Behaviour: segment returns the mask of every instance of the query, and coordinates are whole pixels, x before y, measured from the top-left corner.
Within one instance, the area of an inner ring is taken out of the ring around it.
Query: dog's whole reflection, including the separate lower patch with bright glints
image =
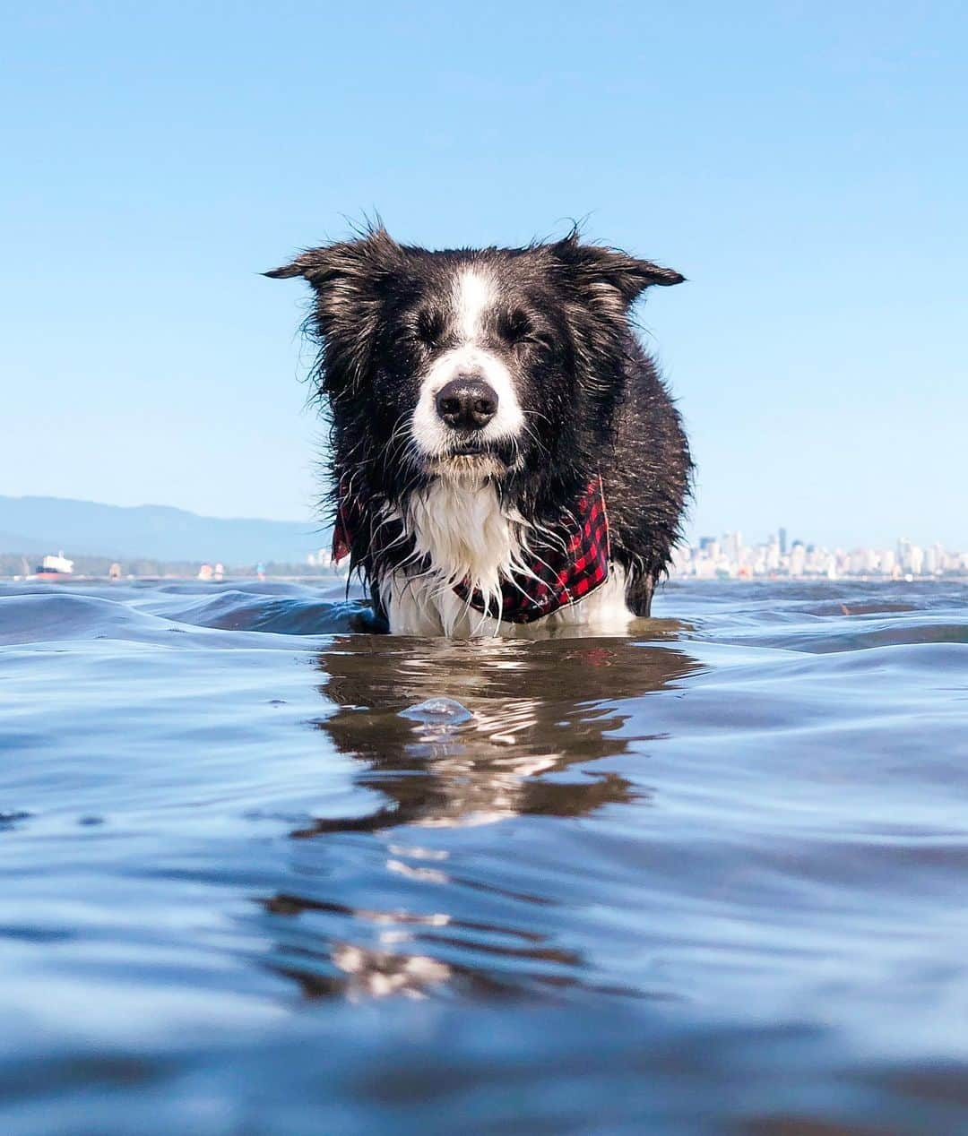
[[[399,829],[581,817],[648,796],[594,762],[627,749],[618,736],[628,718],[623,700],[675,685],[698,669],[695,661],[677,646],[631,640],[353,635],[334,642],[317,665],[320,693],[335,705],[317,727],[360,762],[358,783],[378,796],[362,815],[319,817],[292,836],[322,838],[329,862],[341,850],[325,843],[326,834],[384,834],[378,849],[365,845],[382,867],[378,877],[370,871],[352,884],[331,882],[323,893],[316,885],[307,888],[316,894],[268,900],[274,914],[302,914],[326,938],[320,951],[318,937],[314,945],[293,929],[287,937],[299,946],[290,942],[276,969],[312,997],[419,995],[454,980],[477,993],[579,982],[579,957],[557,946],[553,934],[521,925],[519,905],[531,901],[515,894],[514,880],[494,882],[493,892],[506,888],[517,914],[509,910],[500,926],[468,919],[452,902],[458,885],[449,852],[433,846],[440,840]],[[350,847],[360,855],[360,845]],[[479,958],[485,939],[490,958],[503,963],[464,964],[460,949],[473,946]],[[317,962],[307,964],[310,958]]]

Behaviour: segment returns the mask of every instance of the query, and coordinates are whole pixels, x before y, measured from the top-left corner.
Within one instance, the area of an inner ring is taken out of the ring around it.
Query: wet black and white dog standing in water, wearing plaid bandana
[[[315,290],[334,554],[391,632],[618,632],[649,613],[691,462],[628,312],[678,273],[575,233],[431,252],[378,227],[267,275]]]

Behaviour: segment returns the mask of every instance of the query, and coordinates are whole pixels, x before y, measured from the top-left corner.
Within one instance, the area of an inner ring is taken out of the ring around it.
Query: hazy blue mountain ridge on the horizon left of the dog
[[[210,560],[226,567],[270,560],[301,563],[328,537],[291,520],[199,517],[184,509],[123,508],[66,498],[0,496],[0,552]]]

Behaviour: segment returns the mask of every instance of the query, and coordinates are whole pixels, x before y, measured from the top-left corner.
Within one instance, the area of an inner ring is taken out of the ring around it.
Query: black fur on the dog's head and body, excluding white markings
[[[648,615],[679,535],[692,463],[629,309],[650,285],[683,277],[585,244],[577,233],[521,249],[431,252],[376,227],[266,274],[303,276],[315,291],[314,374],[331,419],[333,503],[342,494],[350,510],[352,567],[376,601],[382,575],[412,553],[408,498],[435,474],[415,454],[406,426],[423,371],[453,345],[442,298],[469,266],[498,282],[486,346],[511,370],[527,416],[519,443],[500,452],[509,468],[496,491],[527,519],[551,524],[601,473],[612,558],[628,569],[629,607]],[[403,531],[381,525],[387,502],[402,512]]]

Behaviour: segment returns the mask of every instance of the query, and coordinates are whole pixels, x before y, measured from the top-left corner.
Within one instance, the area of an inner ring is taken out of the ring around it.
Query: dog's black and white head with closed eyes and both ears
[[[540,476],[594,460],[621,398],[628,311],[683,277],[576,234],[521,249],[398,244],[383,228],[266,275],[315,290],[336,460],[394,486]]]

